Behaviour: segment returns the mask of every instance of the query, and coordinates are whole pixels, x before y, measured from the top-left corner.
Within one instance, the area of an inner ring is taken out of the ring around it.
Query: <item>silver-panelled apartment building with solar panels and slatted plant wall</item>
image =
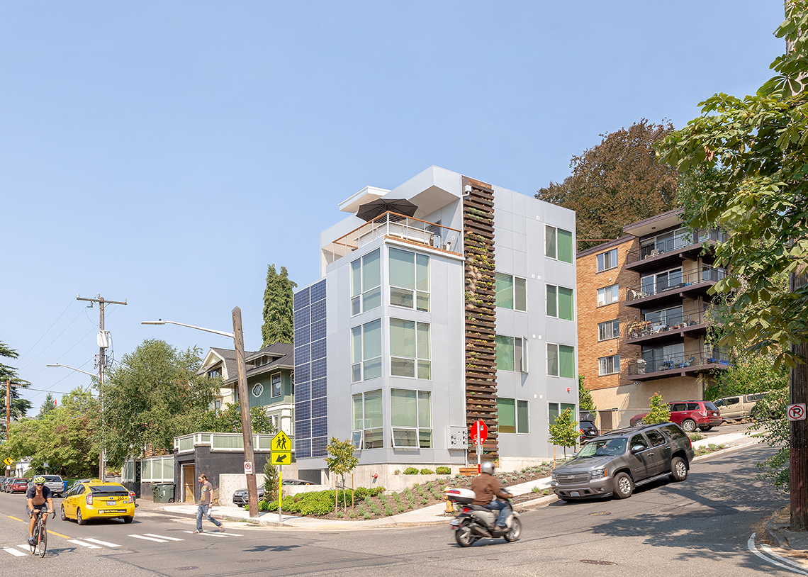
[[[360,468],[464,465],[478,419],[486,458],[552,455],[578,399],[574,213],[436,166],[339,209],[295,293],[298,470],[330,437]]]

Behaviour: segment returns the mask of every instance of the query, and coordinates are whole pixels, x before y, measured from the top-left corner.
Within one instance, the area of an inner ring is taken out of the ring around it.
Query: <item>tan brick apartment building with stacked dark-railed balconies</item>
[[[577,255],[580,374],[602,428],[624,426],[660,393],[701,399],[726,355],[710,346],[708,290],[725,276],[715,230],[689,232],[672,210]]]

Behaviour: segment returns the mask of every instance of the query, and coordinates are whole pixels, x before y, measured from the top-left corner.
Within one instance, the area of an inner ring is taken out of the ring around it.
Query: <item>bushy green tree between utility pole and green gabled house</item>
[[[145,340],[109,370],[103,385],[103,443],[107,460],[120,465],[174,449],[174,437],[199,429],[217,381],[196,374],[199,348],[178,352],[162,340]]]

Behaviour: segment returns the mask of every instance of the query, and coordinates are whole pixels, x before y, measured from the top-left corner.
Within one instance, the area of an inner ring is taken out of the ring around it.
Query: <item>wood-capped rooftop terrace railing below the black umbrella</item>
[[[360,246],[385,236],[417,242],[457,255],[463,254],[463,237],[460,230],[390,212],[368,221],[358,229],[351,230],[323,250],[331,256],[330,262],[333,263],[345,255],[350,255]]]

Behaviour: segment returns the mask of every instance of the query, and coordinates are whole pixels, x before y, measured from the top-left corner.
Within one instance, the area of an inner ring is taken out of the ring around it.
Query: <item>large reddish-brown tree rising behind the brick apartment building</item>
[[[574,210],[576,238],[619,238],[626,224],[675,208],[677,172],[656,162],[652,148],[672,130],[643,118],[600,134],[599,145],[572,158],[572,175],[541,188],[537,199]],[[596,244],[579,241],[578,250]]]

